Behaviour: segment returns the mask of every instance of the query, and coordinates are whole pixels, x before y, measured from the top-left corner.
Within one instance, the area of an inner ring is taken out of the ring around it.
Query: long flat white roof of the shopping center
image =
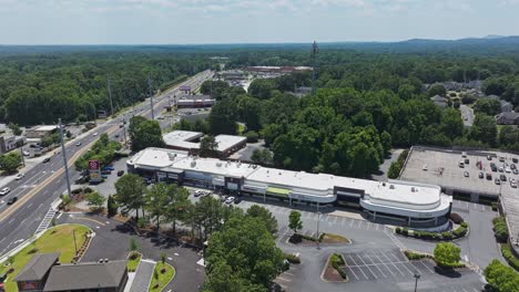
[[[305,171],[283,170],[256,165],[225,161],[215,158],[197,158],[185,153],[147,148],[131,158],[130,164],[167,169],[192,170],[216,176],[244,177],[246,181],[285,186],[293,189],[309,189],[330,194],[334,187],[364,190],[372,201],[385,201],[388,205],[401,204],[431,206],[440,202],[441,189],[435,185],[390,180],[389,182],[309,174]]]

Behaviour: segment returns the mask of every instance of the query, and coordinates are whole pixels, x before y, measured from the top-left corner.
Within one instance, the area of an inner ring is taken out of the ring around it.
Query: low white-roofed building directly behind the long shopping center
[[[163,139],[167,148],[175,150],[187,152],[191,155],[197,155],[200,152],[200,140],[204,134],[191,131],[173,131],[164,134]],[[232,136],[232,135],[217,135],[214,137],[217,143],[220,157],[227,157],[228,155],[245,147],[247,144],[246,137]]]

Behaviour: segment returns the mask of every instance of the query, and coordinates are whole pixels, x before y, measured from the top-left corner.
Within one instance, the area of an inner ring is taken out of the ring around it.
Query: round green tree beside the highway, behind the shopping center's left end
[[[156,121],[134,116],[130,119],[129,133],[133,152],[147,147],[162,147],[164,145],[161,125]]]

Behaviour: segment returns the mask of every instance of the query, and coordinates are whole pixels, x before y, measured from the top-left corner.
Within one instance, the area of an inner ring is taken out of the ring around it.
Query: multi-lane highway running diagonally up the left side
[[[179,93],[181,85],[190,85],[194,88],[200,86],[203,81],[212,77],[212,75],[213,72],[211,71],[201,72],[160,96],[154,96],[154,117],[160,116],[164,106],[169,104],[169,98]],[[129,121],[134,115],[151,118],[150,98],[65,144],[71,184],[80,176],[73,165],[75,159],[86,152],[103,133],[108,133],[111,138],[114,138],[115,135],[123,137],[123,128],[120,128],[120,125],[122,121]],[[161,126],[169,125],[169,123],[162,123],[163,121],[166,122],[167,119],[159,121]],[[129,123],[126,128],[128,125]],[[94,133],[99,135],[94,136]],[[80,146],[75,146],[78,142],[81,142]],[[60,150],[61,148],[57,148],[57,154],[51,157],[49,163],[35,165],[24,174],[26,176],[22,179],[1,186],[1,188],[10,187],[11,192],[0,197],[0,257],[31,238],[49,211],[51,204],[61,194],[65,192],[63,156]],[[18,201],[8,206],[6,202],[13,196],[18,197]]]

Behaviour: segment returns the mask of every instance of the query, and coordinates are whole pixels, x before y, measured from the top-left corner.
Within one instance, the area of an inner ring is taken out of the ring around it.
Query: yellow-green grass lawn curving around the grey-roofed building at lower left
[[[75,253],[74,238],[72,234],[73,230],[75,230],[75,240],[79,249],[85,240],[84,234],[86,234],[90,229],[80,225],[63,225],[49,229],[34,243],[18,252],[12,258],[12,268],[14,271],[7,278],[6,291],[18,291],[17,284],[11,281],[35,253],[60,252],[60,262],[70,263]],[[0,274],[3,274],[7,270],[9,270],[9,268],[2,264],[0,267]]]

